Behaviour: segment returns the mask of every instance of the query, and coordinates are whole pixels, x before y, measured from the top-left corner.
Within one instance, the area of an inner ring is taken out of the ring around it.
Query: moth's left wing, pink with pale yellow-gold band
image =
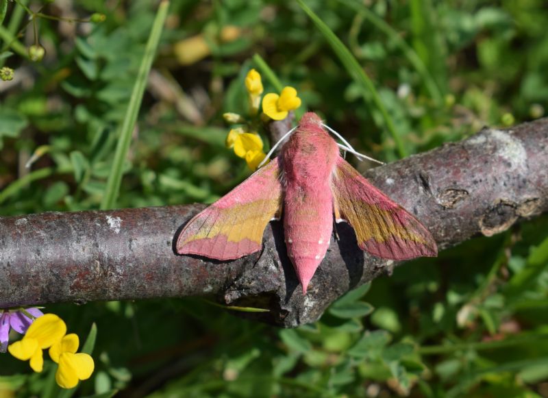
[[[277,158],[191,219],[177,253],[234,260],[260,250],[266,224],[282,212]]]

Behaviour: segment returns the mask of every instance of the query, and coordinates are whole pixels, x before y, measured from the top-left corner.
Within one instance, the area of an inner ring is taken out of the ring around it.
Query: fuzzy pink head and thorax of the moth
[[[285,181],[303,188],[329,184],[338,156],[337,144],[321,127],[321,119],[305,114],[282,150]]]

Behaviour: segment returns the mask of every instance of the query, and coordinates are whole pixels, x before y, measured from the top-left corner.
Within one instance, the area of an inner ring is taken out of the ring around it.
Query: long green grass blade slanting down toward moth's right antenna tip
[[[375,85],[373,84],[369,76],[366,75],[358,60],[354,58],[352,53],[349,51],[349,49],[347,49],[343,42],[339,40],[336,34],[334,34],[334,32],[329,29],[327,25],[325,25],[325,23],[319,18],[319,16],[317,16],[308,7],[308,5],[304,3],[303,0],[297,0],[297,3],[299,3],[303,11],[308,14],[314,25],[316,25],[321,34],[323,34],[325,40],[327,40],[329,45],[332,47],[340,62],[343,63],[345,69],[347,70],[349,75],[351,75],[352,79],[362,87],[362,97],[364,97],[364,101],[366,103],[369,103],[369,98],[367,97],[367,92],[369,92],[369,94],[371,95],[371,99],[373,100],[373,104],[377,107],[377,110],[379,110],[382,115],[384,127],[388,129],[390,136],[392,136],[396,144],[399,156],[405,158],[407,156],[407,151],[403,145],[403,140],[401,140],[401,136],[399,136],[398,132],[396,131],[396,127],[392,119],[390,119],[390,115],[386,111],[384,103],[382,103],[379,92],[377,92]]]

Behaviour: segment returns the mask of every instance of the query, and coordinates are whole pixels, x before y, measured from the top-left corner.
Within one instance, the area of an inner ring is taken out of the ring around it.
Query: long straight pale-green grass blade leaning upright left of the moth
[[[145,87],[147,86],[147,76],[149,75],[149,71],[154,60],[154,55],[156,53],[156,49],[158,48],[158,42],[160,42],[160,36],[166,21],[168,8],[169,1],[164,0],[160,3],[152,25],[149,41],[147,42],[147,47],[145,48],[145,55],[142,58],[137,79],[133,87],[132,97],[129,99],[127,112],[125,113],[122,127],[120,129],[120,136],[118,144],[116,145],[114,160],[112,162],[112,170],[107,180],[105,195],[101,201],[101,209],[103,210],[113,208],[119,195],[124,160],[127,158],[127,151],[129,150],[129,145],[132,142],[132,133],[137,121],[142,95],[145,93]]]

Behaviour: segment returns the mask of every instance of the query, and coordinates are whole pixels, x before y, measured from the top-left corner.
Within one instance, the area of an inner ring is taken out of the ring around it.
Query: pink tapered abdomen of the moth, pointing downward
[[[306,293],[308,282],[325,257],[333,232],[333,198],[329,186],[286,186],[284,235],[288,256]]]

